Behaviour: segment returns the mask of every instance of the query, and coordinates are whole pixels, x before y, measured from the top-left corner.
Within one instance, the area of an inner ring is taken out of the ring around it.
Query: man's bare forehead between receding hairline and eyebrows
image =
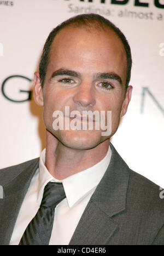
[[[124,45],[112,29],[67,26],[52,42],[47,72],[61,68],[83,72],[87,67],[89,72],[117,72],[124,81],[126,66]]]

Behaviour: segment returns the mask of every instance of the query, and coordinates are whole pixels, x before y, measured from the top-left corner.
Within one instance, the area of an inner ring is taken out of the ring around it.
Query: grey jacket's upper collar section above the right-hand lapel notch
[[[91,201],[112,217],[124,211],[129,178],[129,168],[110,143],[112,157],[106,173],[97,186]]]

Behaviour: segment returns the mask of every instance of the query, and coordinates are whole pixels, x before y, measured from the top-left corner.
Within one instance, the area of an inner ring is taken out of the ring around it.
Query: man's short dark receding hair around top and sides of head
[[[40,64],[39,64],[40,81],[41,81],[42,87],[43,87],[44,81],[45,81],[45,75],[46,75],[46,69],[48,66],[51,44],[54,41],[54,38],[57,35],[57,33],[68,25],[74,25],[74,26],[77,25],[78,27],[81,27],[81,26],[82,27],[92,27],[92,28],[94,27],[95,29],[105,29],[106,27],[109,27],[116,33],[116,35],[118,35],[118,37],[122,41],[122,44],[124,44],[124,48],[125,48],[125,52],[126,52],[127,75],[126,75],[125,88],[127,89],[128,83],[130,82],[131,67],[132,67],[132,56],[131,56],[130,45],[128,44],[128,41],[127,41],[125,35],[111,21],[105,19],[101,15],[92,14],[92,13],[74,16],[73,18],[70,18],[70,19],[62,22],[60,25],[55,27],[55,29],[53,29],[50,32],[50,34],[44,44],[43,53],[42,53],[42,56],[40,59]]]

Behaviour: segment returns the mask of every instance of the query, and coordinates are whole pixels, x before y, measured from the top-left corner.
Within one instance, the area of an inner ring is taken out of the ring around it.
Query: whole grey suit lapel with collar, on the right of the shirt
[[[112,217],[126,208],[129,169],[110,143],[112,157],[69,244],[107,244],[119,230]]]

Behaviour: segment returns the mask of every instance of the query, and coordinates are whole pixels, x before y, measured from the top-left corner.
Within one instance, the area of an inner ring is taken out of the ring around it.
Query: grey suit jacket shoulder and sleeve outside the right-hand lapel
[[[120,237],[128,236],[129,244],[163,244],[164,198],[161,193],[164,195],[164,190],[133,170],[127,170],[125,210],[113,217],[119,223]]]

